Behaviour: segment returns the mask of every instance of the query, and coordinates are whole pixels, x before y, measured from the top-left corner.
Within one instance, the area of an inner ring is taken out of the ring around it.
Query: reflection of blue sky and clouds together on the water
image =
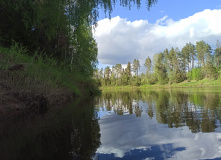
[[[215,128],[215,132],[207,133],[193,133],[186,125],[169,128],[168,124],[159,123],[156,107],[153,107],[154,116],[151,118],[146,112],[147,103],[141,100],[133,101],[142,108],[141,116],[136,116],[135,112],[129,114],[127,110],[124,110],[122,116],[115,112],[116,105],[112,104],[111,110],[108,111],[103,104],[103,109],[99,112],[101,146],[94,159],[197,160],[221,157],[220,127]],[[197,109],[198,112],[202,110]]]

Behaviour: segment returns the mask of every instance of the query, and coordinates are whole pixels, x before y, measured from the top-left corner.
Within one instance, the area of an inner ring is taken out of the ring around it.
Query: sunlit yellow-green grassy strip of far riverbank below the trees
[[[166,84],[166,85],[141,85],[141,86],[105,86],[100,87],[101,90],[127,90],[127,89],[148,89],[148,88],[188,88],[188,87],[221,87],[221,79],[218,80],[193,80],[193,81],[184,81],[176,84]]]

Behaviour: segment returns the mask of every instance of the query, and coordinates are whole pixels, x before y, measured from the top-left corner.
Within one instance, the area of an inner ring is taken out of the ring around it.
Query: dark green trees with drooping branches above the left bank
[[[116,2],[131,8],[141,0],[1,0],[0,45],[18,42],[29,54],[43,52],[86,75],[97,63],[92,35],[100,9],[111,17]],[[149,9],[157,0],[146,0]]]

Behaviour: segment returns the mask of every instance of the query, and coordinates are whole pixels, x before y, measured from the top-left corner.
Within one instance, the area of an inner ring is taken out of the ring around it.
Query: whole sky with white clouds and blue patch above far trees
[[[166,48],[180,50],[188,43],[204,40],[213,49],[221,41],[220,0],[158,0],[150,11],[145,0],[139,10],[116,5],[112,19],[100,11],[94,37],[98,43],[99,68],[145,59]]]

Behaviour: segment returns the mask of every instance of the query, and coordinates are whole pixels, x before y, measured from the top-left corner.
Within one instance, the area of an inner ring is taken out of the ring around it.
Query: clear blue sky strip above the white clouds
[[[118,0],[119,1],[119,0]],[[136,5],[133,5],[131,10],[124,8],[116,3],[115,9],[111,16],[120,16],[127,18],[129,21],[146,19],[150,23],[155,23],[157,19],[164,15],[169,16],[173,20],[187,18],[197,12],[205,9],[221,9],[220,0],[158,0],[157,4],[153,5],[150,10],[147,10],[145,0],[141,2],[141,8],[138,10]],[[104,19],[105,14],[101,10],[99,19]]]

